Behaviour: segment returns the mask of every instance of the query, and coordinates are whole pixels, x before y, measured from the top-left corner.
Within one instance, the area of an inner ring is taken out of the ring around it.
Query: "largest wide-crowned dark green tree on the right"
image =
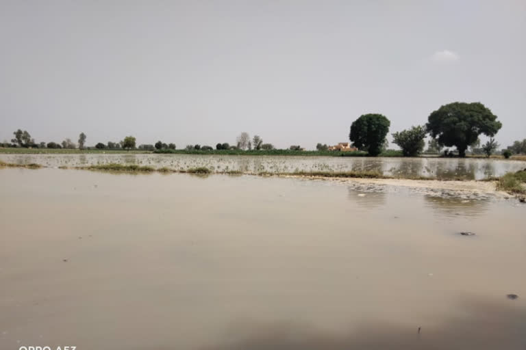
[[[466,157],[466,149],[477,141],[480,134],[493,137],[502,124],[481,103],[455,102],[431,113],[426,126],[439,144],[455,146],[459,156]]]

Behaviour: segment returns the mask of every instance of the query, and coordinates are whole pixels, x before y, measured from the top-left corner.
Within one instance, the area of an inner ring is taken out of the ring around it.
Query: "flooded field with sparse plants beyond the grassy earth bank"
[[[465,178],[481,180],[526,168],[526,161],[504,159],[286,157],[190,154],[0,154],[6,163],[38,163],[46,167],[75,167],[104,163],[138,164],[188,170],[208,167],[213,172],[379,172],[386,176]]]

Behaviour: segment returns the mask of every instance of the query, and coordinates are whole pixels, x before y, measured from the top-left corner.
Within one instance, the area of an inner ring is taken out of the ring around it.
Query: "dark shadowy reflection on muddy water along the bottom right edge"
[[[466,300],[458,314],[434,325],[364,321],[347,332],[331,333],[308,324],[247,321],[233,325],[225,338],[201,350],[523,350],[526,312],[513,304]]]

